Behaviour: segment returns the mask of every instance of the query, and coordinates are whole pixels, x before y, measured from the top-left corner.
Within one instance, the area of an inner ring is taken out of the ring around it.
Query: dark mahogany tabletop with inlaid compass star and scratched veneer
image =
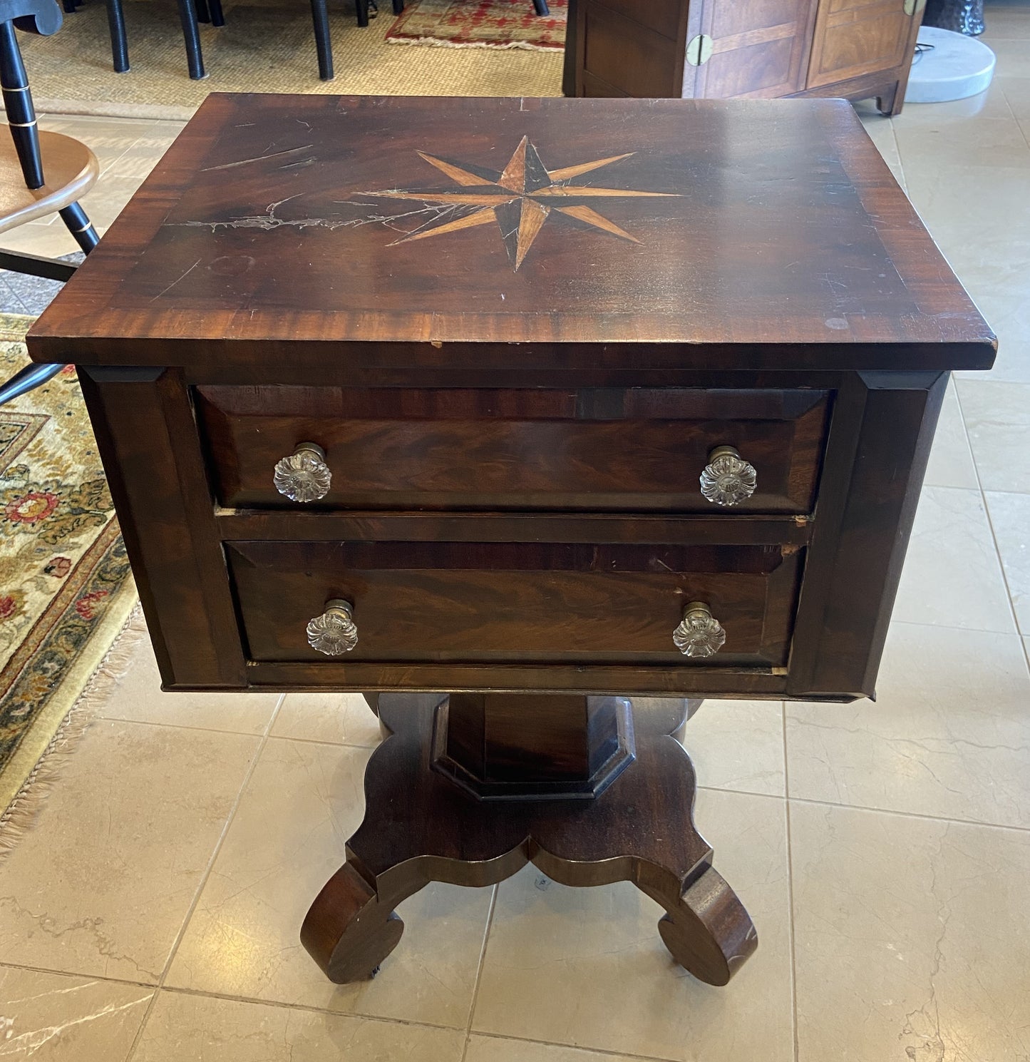
[[[312,343],[339,363],[370,344],[510,363],[522,343],[713,369],[994,350],[835,100],[216,93],[30,336],[36,360],[85,364]]]

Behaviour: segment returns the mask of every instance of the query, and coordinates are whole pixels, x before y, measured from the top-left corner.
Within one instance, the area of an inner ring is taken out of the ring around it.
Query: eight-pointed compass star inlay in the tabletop
[[[486,171],[475,172],[467,166],[457,166],[443,158],[427,155],[419,151],[430,166],[445,173],[463,190],[458,191],[419,191],[389,189],[383,191],[359,192],[378,199],[408,200],[431,204],[435,208],[435,217],[399,240],[394,240],[390,246],[398,243],[410,243],[412,240],[426,240],[447,233],[457,233],[477,225],[488,225],[496,221],[501,232],[501,239],[508,251],[512,266],[517,270],[529,253],[533,241],[539,235],[544,223],[552,212],[572,218],[602,233],[615,236],[632,243],[640,241],[598,213],[590,205],[590,200],[598,199],[675,199],[674,192],[647,192],[628,188],[596,188],[591,185],[572,185],[569,182],[584,173],[599,170],[603,166],[629,158],[635,152],[625,155],[613,155],[611,158],[598,158],[591,162],[581,162],[579,166],[567,166],[560,170],[548,170],[540,161],[536,149],[530,143],[529,137],[522,137],[521,143],[515,149],[503,173],[490,176]],[[479,169],[479,168],[477,168]],[[496,173],[496,171],[493,171]],[[584,202],[581,202],[584,201]]]

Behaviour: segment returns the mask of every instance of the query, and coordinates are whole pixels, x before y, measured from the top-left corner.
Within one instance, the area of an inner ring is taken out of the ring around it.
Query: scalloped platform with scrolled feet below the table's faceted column
[[[503,695],[490,697],[497,703]],[[392,733],[368,761],[364,821],[301,930],[331,980],[373,975],[404,931],[393,908],[430,881],[494,885],[527,862],[563,885],[633,881],[666,909],[658,930],[673,958],[709,984],[729,980],[757,935],[693,825],[693,767],[673,736],[687,702],[650,701],[634,710],[635,756],[593,799],[531,799],[523,787],[507,801],[477,799],[434,760],[437,709],[446,702],[424,693],[378,699]],[[584,727],[596,730],[603,708],[591,704]],[[441,741],[437,734],[437,754]]]

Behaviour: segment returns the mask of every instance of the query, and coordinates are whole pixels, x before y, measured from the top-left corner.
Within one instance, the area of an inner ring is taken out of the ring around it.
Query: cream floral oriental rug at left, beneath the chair
[[[32,318],[0,314],[0,379]],[[0,823],[136,602],[74,370],[0,407]]]

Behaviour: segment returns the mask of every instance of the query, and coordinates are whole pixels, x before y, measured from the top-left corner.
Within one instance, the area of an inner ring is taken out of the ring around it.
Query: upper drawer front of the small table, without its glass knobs
[[[751,513],[811,510],[829,393],[202,387],[220,501],[302,508],[273,483],[301,443],[326,456],[331,509],[718,512],[699,479],[719,446],[754,466]]]

